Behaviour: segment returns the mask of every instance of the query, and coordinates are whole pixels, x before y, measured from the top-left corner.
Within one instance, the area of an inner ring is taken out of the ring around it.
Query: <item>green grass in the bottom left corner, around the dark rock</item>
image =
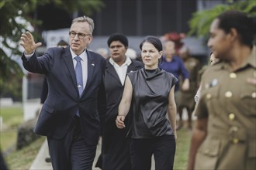
[[[0,107],[0,115],[3,120],[0,148],[3,153],[8,154],[5,157],[6,164],[9,169],[29,169],[45,138],[40,137],[31,145],[16,151],[17,130],[23,122],[22,105]]]

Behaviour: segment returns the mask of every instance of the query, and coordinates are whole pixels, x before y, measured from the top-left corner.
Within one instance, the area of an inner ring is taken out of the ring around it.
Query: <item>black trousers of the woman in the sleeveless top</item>
[[[130,155],[133,170],[150,170],[154,155],[155,170],[173,169],[176,141],[172,135],[132,139]]]

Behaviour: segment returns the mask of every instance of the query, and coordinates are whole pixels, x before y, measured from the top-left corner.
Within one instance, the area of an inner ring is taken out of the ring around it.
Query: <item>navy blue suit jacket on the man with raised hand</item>
[[[64,138],[79,110],[81,131],[88,145],[99,141],[100,121],[106,115],[104,73],[106,59],[98,53],[86,50],[88,56],[88,80],[79,97],[74,64],[67,48],[50,48],[43,56],[33,54],[30,59],[22,56],[26,70],[47,76],[49,94],[45,100],[34,129],[36,134],[55,139]]]

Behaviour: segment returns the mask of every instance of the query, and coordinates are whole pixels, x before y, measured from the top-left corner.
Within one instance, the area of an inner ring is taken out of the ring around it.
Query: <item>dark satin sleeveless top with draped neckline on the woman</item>
[[[128,76],[133,85],[131,138],[173,135],[166,114],[168,95],[178,79],[164,70],[140,69]]]

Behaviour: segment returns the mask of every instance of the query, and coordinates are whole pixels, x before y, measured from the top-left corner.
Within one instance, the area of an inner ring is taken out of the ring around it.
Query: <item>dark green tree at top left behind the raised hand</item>
[[[81,12],[91,15],[103,6],[102,0],[2,0],[0,2],[0,97],[12,93],[21,97],[21,79],[23,76],[19,64],[12,58],[21,56],[19,38],[28,29],[29,24],[35,29],[33,36],[40,38],[36,29],[42,23],[36,19],[36,9],[43,5],[55,5],[66,12]],[[30,26],[30,27],[31,27]]]

